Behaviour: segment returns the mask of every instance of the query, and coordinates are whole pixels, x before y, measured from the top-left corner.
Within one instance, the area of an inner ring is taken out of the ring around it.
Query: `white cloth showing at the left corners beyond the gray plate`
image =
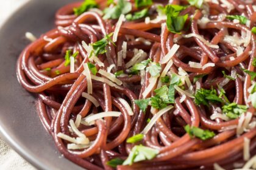
[[[0,0],[0,27],[21,5],[29,0]],[[20,157],[0,138],[0,169],[1,170],[35,170],[33,166]]]

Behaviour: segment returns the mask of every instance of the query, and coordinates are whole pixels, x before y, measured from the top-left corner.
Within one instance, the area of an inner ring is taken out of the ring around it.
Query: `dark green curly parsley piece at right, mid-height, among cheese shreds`
[[[210,106],[209,101],[212,103],[221,102],[224,101],[217,96],[217,92],[215,89],[207,90],[207,89],[198,89],[196,90],[196,94],[194,95],[195,103],[197,105],[204,104],[205,106]]]

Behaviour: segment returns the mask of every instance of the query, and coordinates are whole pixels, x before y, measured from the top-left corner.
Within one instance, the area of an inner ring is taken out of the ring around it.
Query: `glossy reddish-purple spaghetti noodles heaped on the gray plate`
[[[101,10],[107,5],[106,1],[97,2]],[[220,70],[232,68],[232,71],[235,70],[240,76],[222,87],[230,101],[248,106],[247,111],[253,114],[251,122],[255,121],[255,108],[248,102],[249,92],[247,91],[253,81],[250,75],[243,72],[243,69],[255,71],[252,64],[256,56],[255,35],[252,33],[249,44],[240,55],[236,55],[237,47],[230,44],[231,42],[224,41],[224,36],[229,33],[241,39],[242,34],[251,32],[256,22],[256,12],[253,9],[253,5],[256,4],[255,1],[249,4],[240,0],[228,0],[228,2],[235,8],[231,12],[228,12],[227,7],[223,5],[205,2],[210,22],[204,26],[199,24],[199,19],[204,17],[202,9],[191,6],[183,10],[180,14],[189,15],[191,28],[183,31],[182,35],[169,32],[166,24],[162,25],[164,21],[149,24],[146,24],[143,19],[123,22],[116,46],[108,44],[107,52],[98,55],[104,67],[96,65],[97,69],[107,70],[108,66],[115,64],[116,67],[113,67],[112,73],[117,70],[127,73],[126,63],[135,55],[134,49],[142,49],[147,53],[146,59],[150,58],[158,63],[175,43],[180,47],[172,56],[173,64],[169,69],[171,72],[178,73],[179,68],[182,68],[188,72],[190,81],[193,81],[196,75],[208,74],[205,78],[199,78],[197,84],[192,84],[193,88],[200,86],[204,89],[218,89],[218,85],[226,81]],[[154,5],[161,3],[166,5],[167,1],[155,1]],[[169,3],[188,5],[187,1],[170,1]],[[82,41],[90,44],[104,38],[115,30],[117,19],[104,20],[99,13],[92,11],[80,16],[74,15],[73,8],[81,4],[82,2],[68,4],[57,11],[55,15],[57,28],[44,33],[23,50],[16,64],[16,73],[21,86],[37,94],[38,115],[43,126],[54,138],[59,151],[83,168],[112,169],[107,162],[116,157],[125,159],[135,145],[126,143],[127,138],[139,134],[146,126],[146,120],[152,118],[151,109],[147,109],[144,114],[134,102],[134,100],[143,99],[142,94],[150,83],[151,74],[146,72],[144,77],[141,75],[118,77],[123,83],[120,89],[93,80],[91,95],[96,98],[99,107],[95,107],[90,100],[83,98],[82,92],[87,92],[88,86],[87,78],[82,74],[83,63],[89,62],[90,54],[82,46]],[[241,5],[244,8],[241,8]],[[134,5],[132,10],[137,10]],[[152,12],[151,15],[154,18],[156,12]],[[227,19],[219,20],[220,15],[244,15],[251,23],[243,25]],[[218,45],[219,48],[209,47],[198,36],[183,38],[183,35],[189,33],[201,35],[212,46]],[[136,38],[144,38],[151,43],[146,44],[135,40]],[[127,41],[126,58],[122,58],[122,65],[117,66],[118,52],[122,50],[124,41]],[[74,73],[69,73],[70,66],[65,66],[64,56],[68,49],[79,52]],[[214,63],[214,66],[205,69],[194,68],[188,61],[200,63],[201,66]],[[166,64],[162,64],[162,70],[165,66]],[[47,68],[51,70],[45,70]],[[154,95],[154,89],[157,89],[157,86],[153,87],[146,98]],[[125,98],[133,106],[133,115],[129,115],[126,106],[118,100],[119,97]],[[180,92],[176,93],[174,108],[160,117],[140,141],[144,146],[158,149],[159,154],[152,160],[133,163],[131,166],[119,165],[118,169],[212,169],[213,163],[232,169],[233,162],[244,162],[242,151],[244,137],[251,140],[250,152],[251,155],[255,154],[255,127],[241,135],[236,135],[234,128],[228,128],[236,127],[239,118],[228,121],[221,118],[211,120],[210,117],[217,108],[215,104],[211,107],[197,106],[193,98],[186,97],[181,101],[182,98]],[[78,127],[82,134],[93,141],[89,148],[68,149],[68,141],[57,136],[62,132],[71,137],[77,137],[69,130],[69,120],[76,120],[77,115],[84,118],[91,113],[109,111],[119,111],[121,116],[105,117],[103,120],[96,120],[94,125],[81,124]],[[191,138],[183,129],[186,124],[209,129],[216,135],[205,141]]]

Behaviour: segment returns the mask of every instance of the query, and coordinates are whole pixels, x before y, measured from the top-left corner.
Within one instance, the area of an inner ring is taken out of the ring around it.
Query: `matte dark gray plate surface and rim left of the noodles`
[[[17,10],[0,30],[0,132],[7,143],[38,169],[82,169],[61,157],[35,110],[35,98],[16,79],[18,55],[36,36],[54,27],[54,14],[68,0],[34,0]]]

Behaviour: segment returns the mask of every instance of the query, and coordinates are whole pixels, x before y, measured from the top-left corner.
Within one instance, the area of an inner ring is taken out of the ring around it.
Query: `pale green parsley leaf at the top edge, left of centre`
[[[118,19],[121,14],[127,14],[132,10],[132,4],[126,0],[118,0],[115,7],[104,10],[103,19]]]

